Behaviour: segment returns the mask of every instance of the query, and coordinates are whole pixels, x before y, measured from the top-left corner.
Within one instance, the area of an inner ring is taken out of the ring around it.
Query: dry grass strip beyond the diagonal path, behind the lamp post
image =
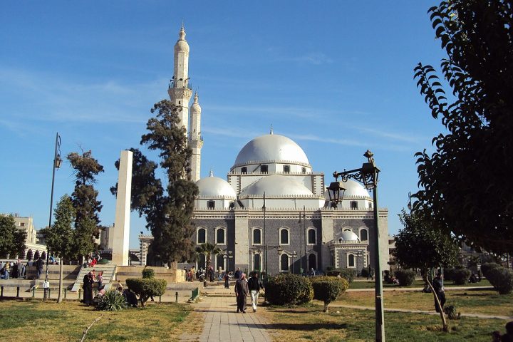
[[[454,304],[462,314],[485,314],[513,316],[513,294],[498,294],[492,290],[455,290],[446,291],[447,303]],[[432,294],[420,291],[384,291],[385,308],[434,310]],[[371,306],[374,304],[373,294],[368,292],[346,292],[336,304]]]

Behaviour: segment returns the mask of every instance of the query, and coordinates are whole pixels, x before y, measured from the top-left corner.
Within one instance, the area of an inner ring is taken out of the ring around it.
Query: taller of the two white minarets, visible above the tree
[[[189,101],[192,96],[192,90],[189,86],[189,44],[185,40],[185,29],[182,24],[178,41],[175,44],[175,71],[172,80],[167,89],[171,102],[174,105],[182,107],[180,112],[180,123],[187,130],[189,126]]]

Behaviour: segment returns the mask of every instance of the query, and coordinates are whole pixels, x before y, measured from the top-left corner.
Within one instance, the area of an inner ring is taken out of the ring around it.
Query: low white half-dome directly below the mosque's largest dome
[[[304,185],[282,175],[270,175],[261,177],[260,180],[244,188],[240,195],[264,195],[268,196],[313,196],[314,194]]]

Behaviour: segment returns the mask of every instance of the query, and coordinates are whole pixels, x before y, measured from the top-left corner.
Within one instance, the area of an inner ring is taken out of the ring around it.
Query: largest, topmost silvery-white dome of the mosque
[[[234,167],[269,162],[286,162],[310,166],[304,150],[293,140],[277,134],[254,138],[240,150]]]

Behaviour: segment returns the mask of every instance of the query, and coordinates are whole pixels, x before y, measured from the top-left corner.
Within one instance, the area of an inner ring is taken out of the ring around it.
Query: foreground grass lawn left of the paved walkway
[[[190,306],[150,304],[123,311],[95,311],[78,302],[0,301],[2,341],[177,341]]]

